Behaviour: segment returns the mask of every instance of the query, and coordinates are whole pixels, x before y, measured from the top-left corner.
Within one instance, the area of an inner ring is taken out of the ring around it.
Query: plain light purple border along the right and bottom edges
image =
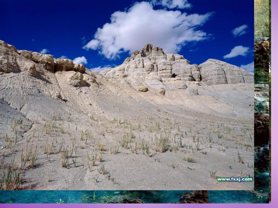
[[[272,55],[272,72],[271,72],[271,77],[273,80],[278,80],[278,59],[276,58],[276,54],[278,54],[278,28],[275,28],[274,25],[276,25],[276,21],[278,21],[278,1],[272,1],[271,2],[271,22],[272,22],[272,27],[271,27],[271,53],[275,54],[275,56]],[[276,11],[276,12],[274,12]],[[278,90],[278,82],[272,82],[272,91],[276,92]],[[271,122],[273,126],[278,123],[278,108],[276,107],[276,103],[278,102],[278,98],[275,96],[274,93],[272,93],[272,106],[271,106],[271,112],[272,112],[272,117],[271,117]],[[272,149],[273,147],[277,147],[278,142],[276,137],[278,136],[278,128],[271,128],[271,146]],[[277,161],[278,159],[278,153],[276,151],[271,151],[271,159],[272,161]],[[1,204],[1,208],[17,208],[17,207],[23,207],[23,208],[48,208],[48,207],[70,207],[70,208],[76,208],[76,207],[156,207],[156,208],[166,208],[166,207],[185,207],[185,206],[190,206],[190,207],[238,207],[238,208],[254,208],[254,207],[277,207],[277,202],[278,199],[278,181],[277,181],[277,170],[278,170],[278,163],[277,162],[272,162],[271,163],[271,172],[272,172],[272,177],[271,177],[271,203],[270,204]],[[273,194],[274,193],[274,194]]]

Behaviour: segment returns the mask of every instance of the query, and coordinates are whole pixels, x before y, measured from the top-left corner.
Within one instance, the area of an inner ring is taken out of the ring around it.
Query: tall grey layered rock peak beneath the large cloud
[[[100,74],[118,78],[134,88],[143,85],[166,90],[185,90],[187,82],[193,81],[207,85],[254,82],[252,74],[237,66],[215,59],[208,59],[199,66],[191,65],[183,55],[165,53],[151,44],[141,51],[133,52],[123,64],[105,69]]]

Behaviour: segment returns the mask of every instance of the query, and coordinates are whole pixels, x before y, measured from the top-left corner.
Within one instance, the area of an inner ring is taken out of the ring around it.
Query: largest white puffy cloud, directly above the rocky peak
[[[179,52],[187,42],[205,40],[207,33],[198,30],[212,13],[186,14],[180,11],[154,10],[150,2],[135,3],[127,11],[116,11],[111,23],[98,28],[84,49],[99,50],[108,59],[118,58],[122,52],[134,52],[147,43],[165,52]]]

